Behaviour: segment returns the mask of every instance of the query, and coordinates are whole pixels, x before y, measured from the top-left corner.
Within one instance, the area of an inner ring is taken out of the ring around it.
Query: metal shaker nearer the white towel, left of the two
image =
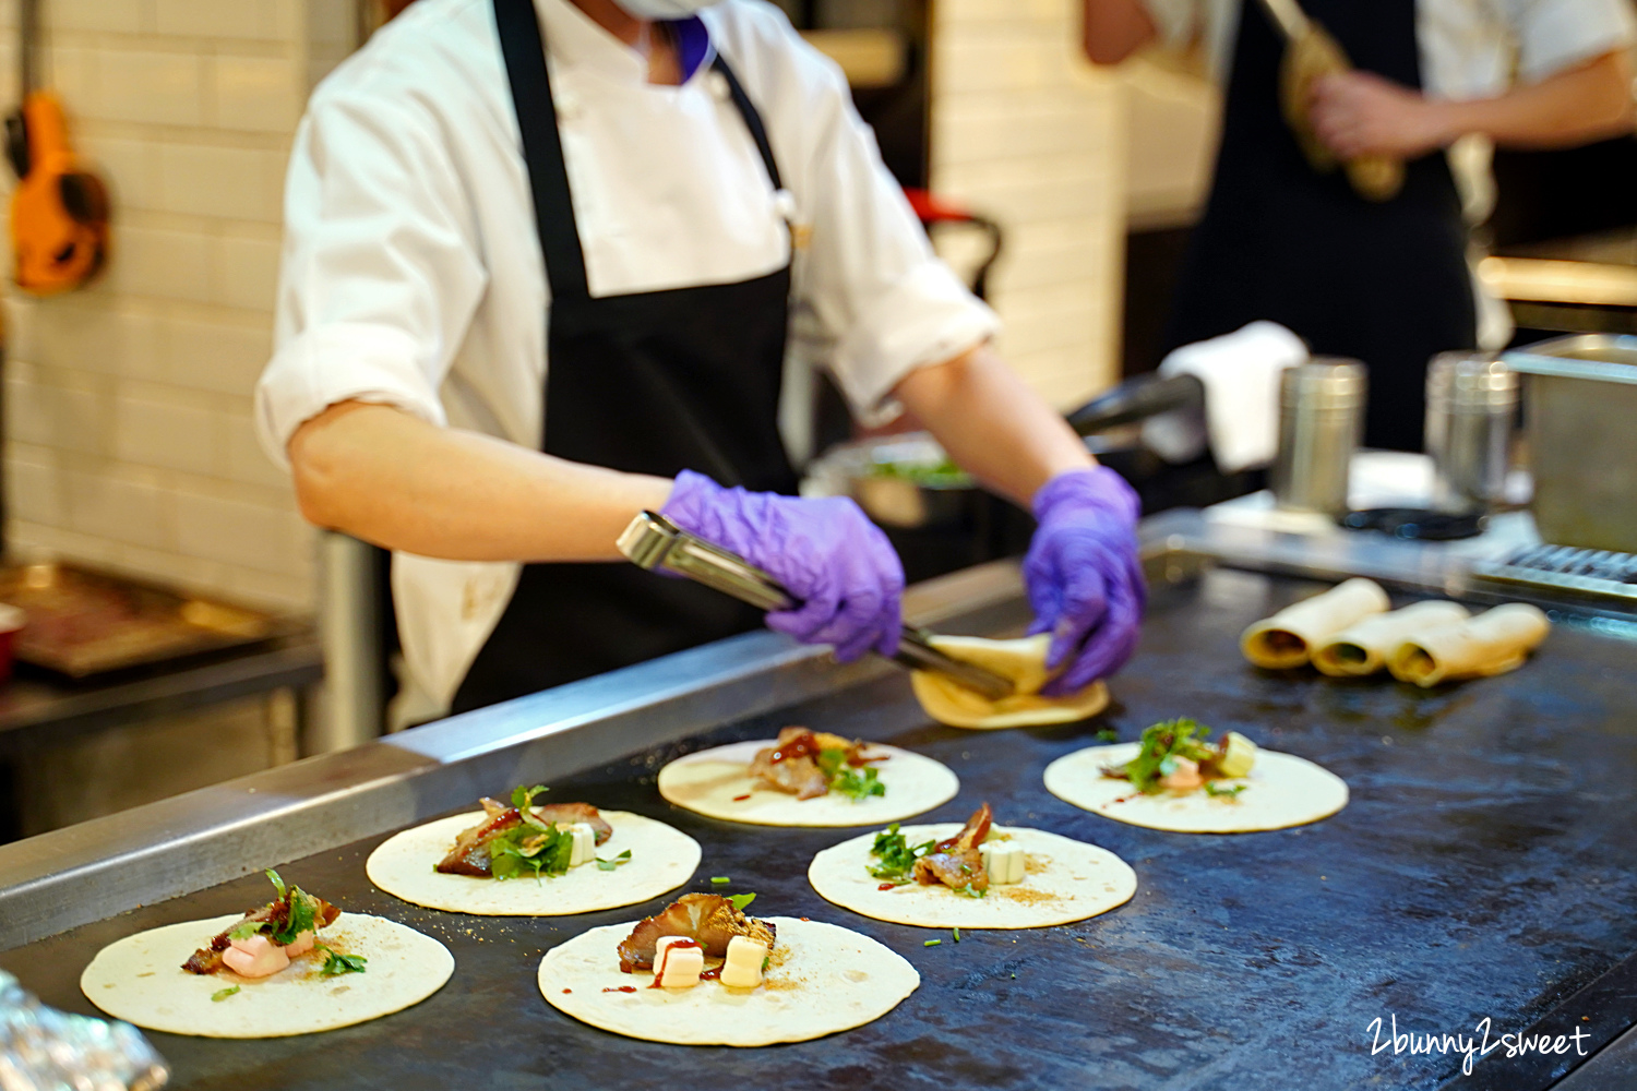
[[[1364,432],[1369,370],[1357,360],[1315,357],[1278,381],[1278,456],[1274,499],[1293,512],[1347,512],[1352,455]]]

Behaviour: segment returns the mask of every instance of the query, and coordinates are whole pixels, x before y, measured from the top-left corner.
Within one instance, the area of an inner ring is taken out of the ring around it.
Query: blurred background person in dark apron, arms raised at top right
[[[1421,450],[1431,357],[1509,335],[1468,267],[1493,146],[1572,147],[1632,128],[1630,0],[1303,0],[1355,67],[1315,83],[1313,131],[1344,162],[1406,162],[1403,190],[1375,203],[1308,165],[1280,105],[1285,41],[1257,0],[1084,7],[1094,62],[1202,43],[1226,85],[1167,348],[1270,319],[1315,353],[1359,358],[1370,447]]]

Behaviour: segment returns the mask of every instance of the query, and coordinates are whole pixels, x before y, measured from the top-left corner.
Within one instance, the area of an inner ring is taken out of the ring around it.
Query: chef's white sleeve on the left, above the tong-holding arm
[[[275,348],[255,391],[257,435],[282,466],[295,430],[337,402],[445,424],[439,386],[488,275],[429,116],[321,88],[296,132]]]

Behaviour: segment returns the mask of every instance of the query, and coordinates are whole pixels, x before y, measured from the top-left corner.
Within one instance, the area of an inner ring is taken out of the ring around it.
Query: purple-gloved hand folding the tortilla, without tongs
[[[1141,501],[1107,466],[1058,474],[1035,494],[1039,527],[1023,558],[1035,625],[1051,633],[1046,667],[1066,669],[1041,692],[1076,694],[1136,651],[1148,589],[1138,559]]]

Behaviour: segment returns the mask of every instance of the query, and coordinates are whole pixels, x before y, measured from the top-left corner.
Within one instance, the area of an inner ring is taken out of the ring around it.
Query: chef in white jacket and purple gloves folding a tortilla
[[[761,622],[616,564],[642,509],[891,653],[902,568],[779,438],[796,350],[912,409],[1041,520],[1064,687],[1131,654],[1136,501],[987,348],[838,69],[768,3],[419,0],[314,93],[286,190],[268,453],[316,523],[388,546],[414,685],[476,708]]]

